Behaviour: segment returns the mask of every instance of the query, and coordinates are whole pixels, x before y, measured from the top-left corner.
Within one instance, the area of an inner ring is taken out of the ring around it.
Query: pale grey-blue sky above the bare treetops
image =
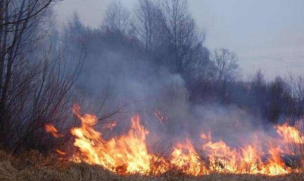
[[[137,0],[122,0],[132,11]],[[57,7],[59,26],[74,11],[99,27],[111,0],[64,0]],[[205,45],[237,53],[243,78],[262,69],[266,78],[304,74],[304,0],[189,0],[190,11],[207,32]]]

